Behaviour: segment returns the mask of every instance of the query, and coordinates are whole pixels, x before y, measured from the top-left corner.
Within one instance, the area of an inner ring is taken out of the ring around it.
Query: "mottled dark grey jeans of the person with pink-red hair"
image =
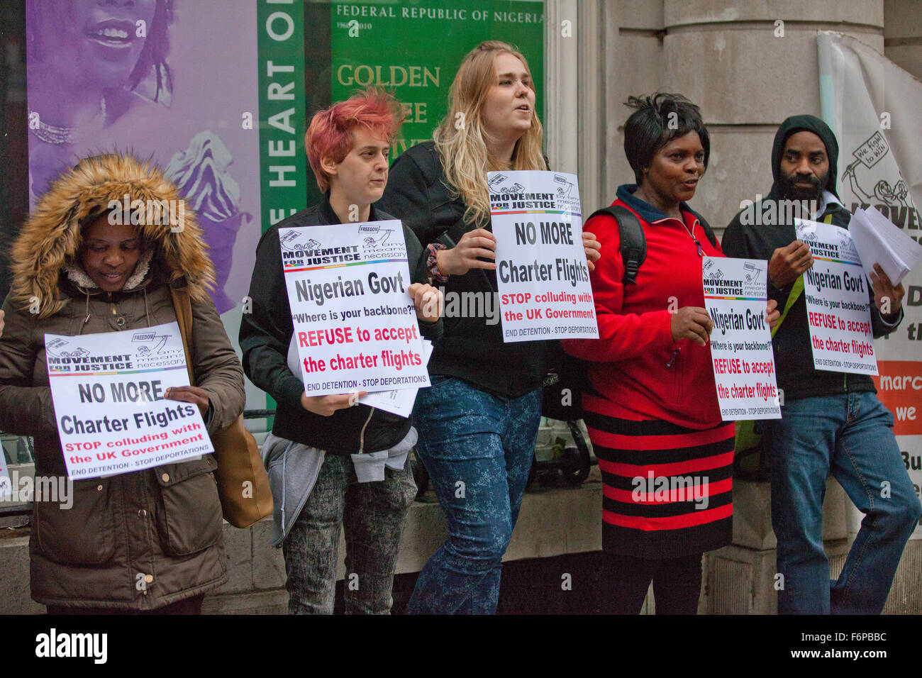
[[[348,456],[326,455],[317,482],[282,541],[290,614],[332,614],[339,531],[346,531],[347,614],[388,614],[397,547],[416,498],[409,463],[384,481],[358,482]]]

